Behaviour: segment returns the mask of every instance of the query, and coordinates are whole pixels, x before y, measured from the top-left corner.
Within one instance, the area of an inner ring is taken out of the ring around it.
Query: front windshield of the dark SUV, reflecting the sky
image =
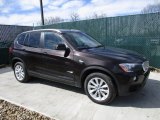
[[[78,49],[87,49],[102,46],[99,42],[81,32],[65,32],[63,33],[63,36],[68,40],[70,44]]]

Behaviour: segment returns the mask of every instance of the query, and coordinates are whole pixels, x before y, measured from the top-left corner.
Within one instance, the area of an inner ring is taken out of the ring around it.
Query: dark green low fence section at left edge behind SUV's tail
[[[9,63],[8,48],[0,48],[0,65]]]

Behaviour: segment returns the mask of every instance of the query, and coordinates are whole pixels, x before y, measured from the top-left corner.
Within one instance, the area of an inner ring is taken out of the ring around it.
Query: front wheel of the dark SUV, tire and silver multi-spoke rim
[[[98,104],[111,103],[117,94],[112,79],[103,73],[89,74],[85,79],[84,89],[87,96]]]

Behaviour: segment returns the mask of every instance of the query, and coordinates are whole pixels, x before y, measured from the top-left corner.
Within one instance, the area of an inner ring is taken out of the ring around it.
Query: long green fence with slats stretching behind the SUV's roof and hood
[[[79,29],[105,46],[143,54],[152,66],[160,68],[160,13],[64,22],[35,29],[40,28]]]

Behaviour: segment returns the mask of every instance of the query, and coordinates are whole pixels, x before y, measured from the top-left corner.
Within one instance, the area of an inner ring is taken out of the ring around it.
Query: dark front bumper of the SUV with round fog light
[[[150,70],[146,73],[129,73],[123,75],[117,75],[118,80],[118,94],[119,96],[125,96],[134,93],[144,87],[148,80]],[[136,80],[133,78],[136,77]]]

